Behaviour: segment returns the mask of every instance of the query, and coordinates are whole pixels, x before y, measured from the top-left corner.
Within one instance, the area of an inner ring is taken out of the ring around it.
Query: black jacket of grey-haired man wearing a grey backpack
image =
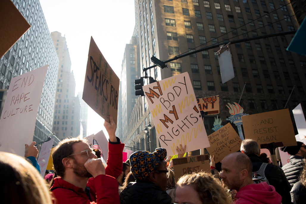
[[[248,154],[248,157],[250,157],[253,164],[252,172],[258,171],[263,161],[256,154]],[[282,168],[268,164],[265,170],[265,176],[269,181],[269,185],[274,186],[275,191],[282,196],[282,204],[291,204],[291,186]]]

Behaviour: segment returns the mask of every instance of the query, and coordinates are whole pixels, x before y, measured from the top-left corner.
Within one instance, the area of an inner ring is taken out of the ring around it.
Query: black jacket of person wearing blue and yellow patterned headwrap
[[[170,204],[172,198],[149,181],[131,182],[120,194],[120,204]]]

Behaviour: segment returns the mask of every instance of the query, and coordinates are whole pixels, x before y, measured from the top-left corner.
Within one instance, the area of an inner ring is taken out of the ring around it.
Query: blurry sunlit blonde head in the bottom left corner
[[[36,168],[15,154],[0,152],[2,204],[52,204],[47,183]]]

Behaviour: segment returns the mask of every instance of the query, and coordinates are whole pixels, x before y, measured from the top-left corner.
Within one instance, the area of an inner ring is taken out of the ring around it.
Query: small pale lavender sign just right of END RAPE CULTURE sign
[[[37,163],[39,164],[40,174],[43,178],[45,177],[45,172],[46,172],[47,164],[50,158],[50,153],[51,153],[53,142],[54,142],[54,139],[48,142],[45,142],[43,145],[41,145]]]

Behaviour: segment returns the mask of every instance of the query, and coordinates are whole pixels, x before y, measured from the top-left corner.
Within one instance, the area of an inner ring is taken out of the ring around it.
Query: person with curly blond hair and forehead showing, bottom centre
[[[176,203],[230,204],[230,194],[226,193],[220,180],[211,173],[198,172],[182,176],[175,191]]]

